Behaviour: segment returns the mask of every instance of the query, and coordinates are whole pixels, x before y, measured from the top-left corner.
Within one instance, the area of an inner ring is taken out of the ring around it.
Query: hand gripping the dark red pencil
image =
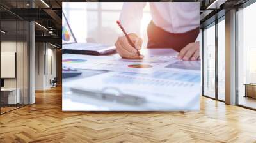
[[[134,33],[128,34],[128,36],[134,43],[135,48],[140,50],[142,45],[142,39]],[[115,46],[118,54],[126,59],[143,59],[144,57],[143,55],[138,56],[137,50],[129,44],[125,36],[118,37]]]

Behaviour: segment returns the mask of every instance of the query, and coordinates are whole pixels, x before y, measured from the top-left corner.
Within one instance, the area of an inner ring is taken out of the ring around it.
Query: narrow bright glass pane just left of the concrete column
[[[218,99],[225,101],[225,19],[218,23]]]

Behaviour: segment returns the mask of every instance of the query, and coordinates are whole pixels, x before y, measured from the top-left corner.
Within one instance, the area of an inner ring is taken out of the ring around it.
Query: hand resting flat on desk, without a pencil
[[[178,59],[183,59],[184,61],[196,61],[199,59],[199,41],[194,43],[189,43],[183,49],[180,50]]]

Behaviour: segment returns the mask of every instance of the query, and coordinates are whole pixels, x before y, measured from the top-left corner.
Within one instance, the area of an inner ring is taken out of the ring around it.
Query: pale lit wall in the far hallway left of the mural
[[[54,77],[56,77],[56,49],[48,43],[36,43],[35,90],[51,88],[50,80]]]

